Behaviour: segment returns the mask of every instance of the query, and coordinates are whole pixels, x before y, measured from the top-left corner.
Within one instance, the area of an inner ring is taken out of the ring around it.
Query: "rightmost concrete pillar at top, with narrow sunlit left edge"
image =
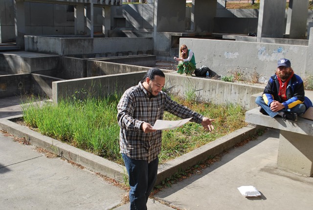
[[[289,39],[305,37],[309,0],[289,0],[286,34]]]

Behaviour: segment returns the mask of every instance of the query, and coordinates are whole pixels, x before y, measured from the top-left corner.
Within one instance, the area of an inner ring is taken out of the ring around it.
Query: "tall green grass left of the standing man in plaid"
[[[119,126],[117,94],[97,99],[61,100],[58,105],[22,106],[23,119],[31,127],[51,138],[119,162]]]

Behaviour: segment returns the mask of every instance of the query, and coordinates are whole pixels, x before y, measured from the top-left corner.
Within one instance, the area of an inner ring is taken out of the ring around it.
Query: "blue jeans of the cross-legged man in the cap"
[[[282,109],[278,112],[273,112],[270,110],[270,107],[264,102],[264,99],[262,96],[258,96],[256,99],[255,99],[255,103],[257,105],[259,105],[260,107],[262,107],[266,113],[268,113],[269,117],[275,117],[276,115],[278,115],[278,113],[280,112],[289,112],[289,113],[296,113],[297,115],[302,115],[306,108],[305,108],[305,105],[304,104],[298,104],[296,105],[295,107],[292,107],[291,109]]]

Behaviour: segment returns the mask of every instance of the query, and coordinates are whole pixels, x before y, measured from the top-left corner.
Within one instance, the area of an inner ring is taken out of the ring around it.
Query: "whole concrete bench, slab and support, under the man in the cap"
[[[259,107],[246,112],[246,122],[280,130],[277,167],[305,176],[313,175],[313,120],[271,118]]]

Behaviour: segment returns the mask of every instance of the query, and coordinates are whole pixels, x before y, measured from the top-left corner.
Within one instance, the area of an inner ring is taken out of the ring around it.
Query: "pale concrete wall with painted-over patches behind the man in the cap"
[[[255,71],[261,81],[265,82],[275,73],[280,58],[290,59],[296,74],[302,77],[313,75],[310,54],[313,47],[310,41],[309,46],[296,46],[180,38],[179,44],[185,44],[195,52],[198,68],[208,66],[220,76],[231,75],[237,70],[244,72],[247,78]]]

